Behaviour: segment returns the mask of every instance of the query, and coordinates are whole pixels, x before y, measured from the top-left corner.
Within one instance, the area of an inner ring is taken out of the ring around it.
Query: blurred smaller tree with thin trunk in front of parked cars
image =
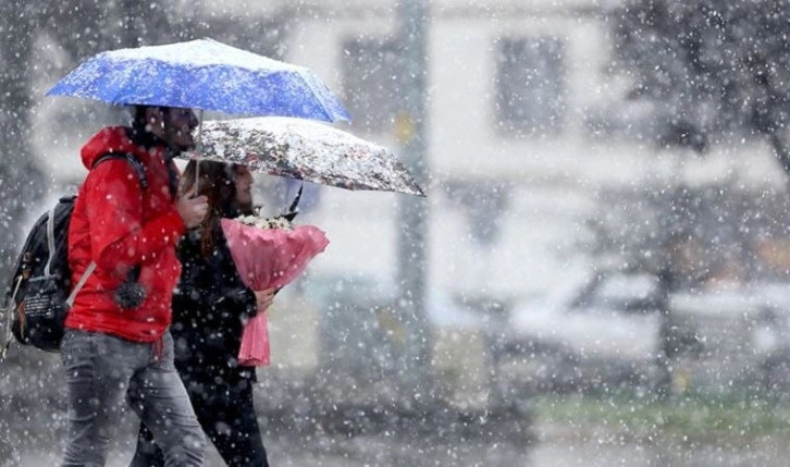
[[[678,292],[703,292],[719,284],[787,280],[760,255],[762,241],[787,232],[788,199],[769,189],[752,191],[735,177],[705,186],[613,188],[600,195],[583,245],[598,271],[650,273],[658,279],[659,347],[655,395],[671,395],[672,368],[702,343],[690,322],[671,308]]]

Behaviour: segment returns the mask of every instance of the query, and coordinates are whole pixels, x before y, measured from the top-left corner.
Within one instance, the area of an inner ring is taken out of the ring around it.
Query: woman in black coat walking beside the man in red
[[[193,191],[196,167],[196,161],[186,167],[185,193]],[[222,218],[252,212],[252,175],[244,165],[211,161],[201,161],[198,172],[197,192],[208,197],[210,214],[177,248],[183,271],[173,294],[175,367],[225,464],[268,466],[252,403],[255,367],[238,366],[236,357],[244,322],[271,305],[274,291],[252,291],[242,283],[220,226]],[[161,451],[140,426],[132,466],[163,465]]]

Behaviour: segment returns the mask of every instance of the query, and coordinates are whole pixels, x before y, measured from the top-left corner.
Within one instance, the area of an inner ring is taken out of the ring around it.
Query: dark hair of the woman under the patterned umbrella
[[[236,206],[236,165],[211,160],[190,160],[181,179],[181,194],[184,195],[195,186],[198,180],[197,196],[208,198],[209,213],[198,229],[201,230],[200,251],[210,255],[219,236],[219,220],[235,218],[242,212]]]

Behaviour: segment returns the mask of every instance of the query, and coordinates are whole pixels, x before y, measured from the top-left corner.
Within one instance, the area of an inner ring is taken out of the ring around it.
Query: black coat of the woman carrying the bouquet
[[[183,271],[173,294],[171,332],[175,366],[187,389],[190,382],[255,380],[255,368],[239,367],[237,356],[244,322],[257,312],[256,297],[236,271],[219,219],[212,229],[218,241],[209,255],[200,251],[199,231],[189,231],[177,248]]]

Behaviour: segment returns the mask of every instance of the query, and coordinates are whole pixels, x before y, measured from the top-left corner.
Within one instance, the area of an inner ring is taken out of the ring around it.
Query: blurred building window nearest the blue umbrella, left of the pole
[[[353,126],[392,132],[398,111],[397,42],[392,38],[353,37],[343,44],[343,89]]]

